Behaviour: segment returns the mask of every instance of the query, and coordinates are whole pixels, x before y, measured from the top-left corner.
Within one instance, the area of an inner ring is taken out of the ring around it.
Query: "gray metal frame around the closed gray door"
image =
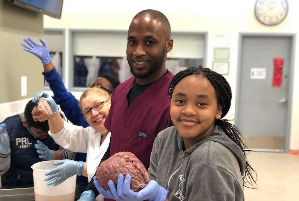
[[[264,37],[291,37],[291,61],[289,69],[289,83],[288,83],[288,107],[287,107],[287,118],[286,118],[286,135],[285,135],[285,148],[280,149],[250,149],[255,151],[269,151],[269,152],[289,152],[290,149],[290,135],[291,135],[291,115],[292,115],[292,96],[293,96],[293,81],[294,81],[294,61],[295,61],[295,43],[296,34],[288,33],[239,33],[239,51],[238,51],[238,65],[237,65],[237,95],[236,95],[236,106],[235,106],[235,125],[238,126],[238,111],[240,107],[240,83],[241,83],[241,63],[242,63],[242,41],[245,36],[264,36]]]

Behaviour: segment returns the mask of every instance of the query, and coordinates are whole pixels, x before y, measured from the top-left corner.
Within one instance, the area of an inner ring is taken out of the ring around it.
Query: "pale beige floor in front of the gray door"
[[[257,171],[257,189],[244,188],[245,201],[299,200],[299,156],[286,153],[249,152]]]

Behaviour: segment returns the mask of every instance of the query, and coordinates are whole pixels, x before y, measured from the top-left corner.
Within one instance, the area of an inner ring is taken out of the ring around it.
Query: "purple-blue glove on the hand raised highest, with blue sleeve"
[[[33,55],[37,56],[42,61],[42,64],[47,65],[52,61],[48,46],[45,43],[45,41],[43,41],[42,39],[39,39],[39,41],[42,43],[42,46],[38,45],[30,37],[27,39],[24,39],[24,41],[29,45],[29,46],[27,46],[26,44],[21,43],[21,45],[24,47],[24,49],[27,52],[30,52]]]

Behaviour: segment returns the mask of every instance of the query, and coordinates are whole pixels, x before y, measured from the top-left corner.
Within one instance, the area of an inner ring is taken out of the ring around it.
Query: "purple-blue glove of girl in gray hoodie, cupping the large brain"
[[[123,181],[123,175],[119,174],[117,179],[117,190],[115,185],[108,182],[112,195],[118,201],[164,201],[168,191],[161,187],[156,181],[150,180],[147,185],[138,192],[130,189],[131,175],[127,174]]]

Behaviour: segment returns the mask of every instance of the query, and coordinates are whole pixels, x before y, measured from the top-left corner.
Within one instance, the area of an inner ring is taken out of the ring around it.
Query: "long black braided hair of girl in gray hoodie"
[[[176,87],[176,85],[179,83],[179,81],[181,81],[181,79],[189,75],[202,75],[210,81],[216,92],[217,103],[218,105],[222,106],[221,118],[223,118],[228,113],[228,110],[231,107],[231,87],[222,75],[210,70],[209,68],[203,68],[202,66],[199,66],[198,68],[191,67],[177,73],[173,77],[168,88],[168,96],[170,97],[170,99],[172,97],[174,87]],[[215,125],[219,126],[224,131],[224,133],[244,152],[244,156],[246,158],[246,165],[245,173],[242,176],[244,181],[243,185],[245,187],[251,188],[247,185],[253,186],[254,184],[256,184],[256,179],[253,178],[253,173],[256,175],[256,171],[251,167],[251,165],[247,161],[245,153],[245,149],[247,148],[247,146],[242,141],[244,138],[241,132],[236,126],[229,123],[229,121],[231,121],[231,119],[216,119]]]

